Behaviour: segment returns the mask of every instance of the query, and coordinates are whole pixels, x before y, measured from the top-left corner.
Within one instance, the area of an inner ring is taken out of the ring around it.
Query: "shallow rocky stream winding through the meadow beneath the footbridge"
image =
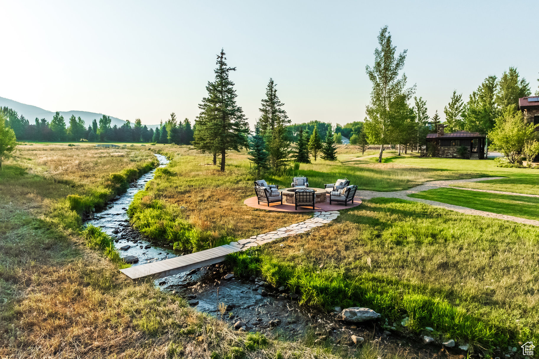
[[[159,160],[159,167],[169,163],[165,156],[155,156]],[[86,222],[101,227],[114,237],[115,247],[122,257],[137,257],[138,262],[133,263],[133,266],[182,255],[171,247],[154,245],[130,226],[127,208],[135,194],[154,178],[154,173],[155,170],[142,175],[119,199],[108,202],[105,210],[95,213]],[[419,337],[399,336],[384,330],[379,324],[371,322],[354,325],[337,320],[331,314],[300,306],[294,300],[297,296],[293,293],[279,293],[264,284],[259,286],[257,283],[260,283],[261,278],[225,279],[225,274],[229,274],[229,271],[225,264],[220,263],[156,279],[155,285],[163,291],[187,298],[198,311],[211,315],[217,313],[219,319],[229,321],[231,325],[242,321],[246,330],[259,331],[269,337],[296,340],[308,336],[312,340],[321,341],[332,337],[335,343],[348,346],[351,344],[350,336],[357,335],[402,356],[464,358],[462,354],[465,352],[458,353],[458,349],[450,353],[440,344],[423,344]],[[217,303],[224,303],[224,313],[218,311]]]

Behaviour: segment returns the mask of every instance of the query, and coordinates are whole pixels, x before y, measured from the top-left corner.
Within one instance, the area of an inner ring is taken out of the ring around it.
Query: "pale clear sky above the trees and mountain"
[[[382,5],[383,4],[383,5]],[[519,3],[0,0],[0,96],[143,124],[194,121],[224,48],[251,124],[269,78],[293,123],[362,121],[377,35],[407,49],[429,115],[517,67],[537,89],[539,24]],[[529,18],[526,20],[526,18]]]

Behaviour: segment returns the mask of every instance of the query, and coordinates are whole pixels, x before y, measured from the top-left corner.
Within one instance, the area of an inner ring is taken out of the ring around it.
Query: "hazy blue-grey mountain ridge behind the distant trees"
[[[51,122],[52,117],[56,113],[53,111],[44,110],[36,106],[27,105],[25,103],[13,101],[13,100],[10,100],[9,98],[0,97],[0,107],[4,107],[4,106],[17,111],[19,115],[23,115],[24,117],[26,117],[26,119],[30,121],[30,124],[34,123],[34,119],[36,117],[39,119],[46,118],[47,121]],[[99,118],[101,118],[101,116],[103,115],[103,114],[96,114],[95,112],[87,112],[87,111],[59,111],[59,112],[60,112],[60,115],[64,116],[64,120],[66,124],[68,123],[71,115],[75,115],[75,117],[80,116],[80,118],[84,120],[86,127],[92,125],[92,121],[94,120],[94,118],[98,120],[99,122]],[[123,121],[123,119],[110,116],[111,126],[117,125],[118,127],[120,127],[124,123],[125,121]],[[133,125],[133,122],[131,124]],[[149,129],[150,128],[155,129],[159,125],[147,125],[147,126]]]

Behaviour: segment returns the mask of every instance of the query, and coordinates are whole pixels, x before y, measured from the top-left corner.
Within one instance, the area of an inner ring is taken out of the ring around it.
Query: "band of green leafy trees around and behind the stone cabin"
[[[398,145],[399,152],[401,146],[405,152],[414,147],[419,150],[419,146],[425,143],[426,134],[436,132],[440,117],[436,110],[434,116],[429,118],[426,101],[413,96],[416,86],[406,87],[406,75],[401,72],[407,51],[397,55],[387,26],[378,35],[378,45],[374,65],[365,67],[372,82],[372,91],[363,128],[368,142],[380,145],[378,161],[381,162],[384,144]],[[509,67],[509,71],[504,72],[500,79],[494,75],[488,76],[466,103],[462,100],[462,94],[457,94],[455,90],[444,108],[446,131],[479,132],[496,142],[494,136],[501,132],[494,130],[502,128],[508,118],[519,117],[519,98],[530,94],[529,83],[519,77],[514,67]],[[521,123],[519,126],[524,125]],[[534,137],[535,133],[530,136]]]

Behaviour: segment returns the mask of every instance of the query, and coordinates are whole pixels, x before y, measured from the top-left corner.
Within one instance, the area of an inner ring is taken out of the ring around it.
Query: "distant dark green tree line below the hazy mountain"
[[[192,142],[194,133],[189,119],[185,118],[183,122],[177,121],[174,112],[170,114],[171,118],[165,124],[161,123],[155,130],[142,125],[140,118],[135,119],[133,125],[127,120],[121,126],[111,126],[110,116],[102,115],[99,122],[94,119],[92,125],[86,128],[80,116],[75,118],[71,115],[66,124],[64,116],[59,112],[54,114],[51,122],[45,118],[36,117],[33,124],[8,107],[0,108],[0,112],[6,118],[5,126],[13,130],[18,140],[42,142],[87,140],[88,142],[154,142],[187,145]]]

